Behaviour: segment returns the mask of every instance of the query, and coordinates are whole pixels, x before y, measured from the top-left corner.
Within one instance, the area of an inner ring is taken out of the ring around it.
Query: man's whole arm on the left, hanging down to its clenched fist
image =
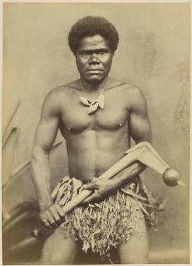
[[[32,148],[32,178],[39,199],[40,218],[47,227],[56,227],[64,216],[59,205],[54,205],[50,188],[49,153],[55,142],[59,129],[59,104],[57,93],[51,92],[45,99],[41,109],[41,118],[35,134]]]

